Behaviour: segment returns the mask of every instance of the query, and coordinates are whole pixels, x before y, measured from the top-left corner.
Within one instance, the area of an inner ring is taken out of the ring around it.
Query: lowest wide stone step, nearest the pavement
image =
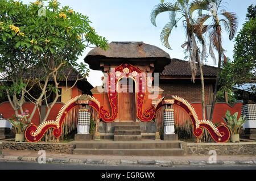
[[[183,149],[82,149],[76,148],[73,154],[88,155],[133,155],[133,156],[181,156]]]

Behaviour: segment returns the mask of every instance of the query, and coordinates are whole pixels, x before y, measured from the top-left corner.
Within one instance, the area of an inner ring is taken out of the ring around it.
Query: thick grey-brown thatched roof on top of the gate
[[[164,66],[170,64],[170,55],[164,50],[143,42],[117,42],[109,44],[108,50],[94,48],[84,58],[90,69],[102,70],[101,62],[121,64],[129,61],[131,64],[154,63],[155,72],[162,72]]]

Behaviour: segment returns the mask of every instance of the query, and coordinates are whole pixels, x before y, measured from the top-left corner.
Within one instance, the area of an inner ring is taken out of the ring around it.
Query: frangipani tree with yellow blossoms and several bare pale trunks
[[[62,71],[64,66],[73,66],[82,75],[66,91],[88,75],[85,64],[77,63],[79,56],[92,45],[108,48],[107,40],[97,35],[90,23],[88,16],[68,6],[60,7],[55,0],[48,1],[47,6],[43,6],[43,1],[30,5],[13,0],[0,1],[0,71],[3,79],[0,83],[16,116],[18,111],[24,112],[22,106],[27,98],[35,105],[29,117],[31,120],[43,100],[47,102],[48,92],[53,91],[56,97],[51,105],[47,104],[44,120],[47,119],[61,96],[57,78],[67,80],[69,76]],[[53,82],[51,85],[49,80]],[[40,87],[36,97],[30,94],[35,86]]]

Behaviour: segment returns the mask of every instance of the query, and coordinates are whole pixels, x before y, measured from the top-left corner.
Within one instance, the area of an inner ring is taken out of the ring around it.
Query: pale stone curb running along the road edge
[[[18,157],[3,156],[0,161],[23,161],[37,163],[38,157]],[[171,161],[171,160],[132,160],[132,159],[76,159],[76,158],[47,158],[46,163],[71,163],[71,164],[90,164],[90,165],[256,165],[256,160],[236,160],[236,161],[217,161],[209,163],[207,161]]]

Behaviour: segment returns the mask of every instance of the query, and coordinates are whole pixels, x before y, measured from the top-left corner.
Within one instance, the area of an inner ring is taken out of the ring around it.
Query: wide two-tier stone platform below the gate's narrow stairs
[[[184,155],[181,141],[73,141],[76,149],[73,154],[85,155],[136,155],[161,156]]]

